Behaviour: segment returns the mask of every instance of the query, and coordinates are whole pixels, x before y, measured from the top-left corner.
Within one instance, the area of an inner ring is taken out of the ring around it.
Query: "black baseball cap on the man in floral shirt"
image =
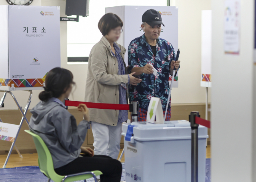
[[[142,22],[146,22],[152,27],[158,24],[164,25],[161,14],[153,9],[146,10],[146,12],[142,15]]]

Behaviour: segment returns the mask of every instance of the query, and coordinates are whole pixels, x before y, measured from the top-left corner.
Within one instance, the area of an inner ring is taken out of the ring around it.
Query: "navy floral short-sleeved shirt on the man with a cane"
[[[146,64],[156,68],[157,75],[142,73],[138,78],[142,79],[137,86],[130,85],[130,102],[138,101],[139,108],[148,110],[148,105],[152,97],[161,99],[162,109],[165,111],[170,91],[169,76],[170,63],[176,60],[176,54],[172,45],[161,38],[156,43],[156,57],[153,55],[145,34],[131,41],[128,47],[128,72],[131,73],[134,67],[144,67]],[[168,109],[170,109],[169,102]]]

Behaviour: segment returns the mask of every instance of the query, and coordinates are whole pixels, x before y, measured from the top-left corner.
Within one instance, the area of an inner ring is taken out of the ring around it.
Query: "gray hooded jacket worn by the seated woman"
[[[76,125],[75,117],[54,101],[39,102],[32,110],[29,128],[39,135],[48,147],[54,168],[76,159],[84,143],[88,121]]]

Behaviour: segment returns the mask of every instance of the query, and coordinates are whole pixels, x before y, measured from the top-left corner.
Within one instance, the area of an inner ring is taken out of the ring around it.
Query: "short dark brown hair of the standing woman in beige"
[[[104,14],[98,23],[98,27],[102,35],[108,35],[110,30],[118,26],[123,27],[123,21],[114,13]]]

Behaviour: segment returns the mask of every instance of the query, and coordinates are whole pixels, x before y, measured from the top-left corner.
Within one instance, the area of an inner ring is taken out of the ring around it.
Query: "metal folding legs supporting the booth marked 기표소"
[[[19,132],[20,132],[20,128],[21,128],[21,126],[22,126],[22,123],[23,123],[24,119],[26,120],[27,124],[29,124],[28,119],[26,118],[26,114],[27,114],[27,112],[28,112],[28,108],[29,108],[29,105],[30,105],[30,102],[31,102],[32,90],[27,90],[27,91],[30,92],[30,95],[29,95],[29,98],[28,98],[28,102],[27,102],[27,104],[26,104],[26,107],[24,108],[24,112],[23,112],[23,111],[22,111],[22,108],[20,107],[18,101],[16,100],[14,94],[13,94],[11,91],[0,90],[0,92],[4,92],[4,96],[3,96],[2,99],[0,100],[0,108],[1,108],[2,105],[4,104],[4,99],[5,99],[6,95],[7,95],[7,93],[9,93],[9,94],[12,96],[12,98],[13,98],[14,102],[16,103],[16,105],[18,106],[18,109],[20,110],[20,113],[22,114],[22,119],[21,119],[21,121],[20,121],[20,125],[19,125],[18,131],[17,131],[17,133],[16,133],[16,137],[15,137],[14,141],[12,142],[12,146],[11,146],[10,151],[9,151],[9,153],[8,153],[8,155],[7,155],[7,158],[6,158],[5,162],[4,162],[3,168],[6,167],[6,164],[7,164],[8,160],[9,160],[9,157],[10,157],[10,155],[11,155],[11,153],[12,153],[13,147],[15,147],[15,149],[16,149],[18,155],[22,158],[22,155],[20,154],[20,151],[19,151],[18,148],[16,147],[15,142],[16,142],[16,139],[17,139],[18,134],[19,134]],[[3,122],[3,121],[0,119],[0,122]]]

